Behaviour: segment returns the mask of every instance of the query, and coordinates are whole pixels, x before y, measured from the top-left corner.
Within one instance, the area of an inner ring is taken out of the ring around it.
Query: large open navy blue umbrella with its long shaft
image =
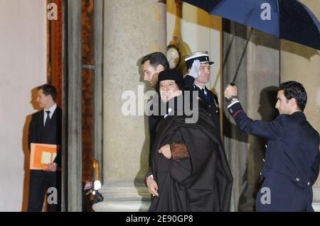
[[[320,23],[298,0],[182,0],[210,14],[250,26],[235,77],[245,54],[253,28],[277,38],[300,43],[320,50]]]

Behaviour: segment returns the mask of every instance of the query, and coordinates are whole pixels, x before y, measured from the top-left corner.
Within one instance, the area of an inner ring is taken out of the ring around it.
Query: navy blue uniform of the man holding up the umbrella
[[[240,103],[228,111],[240,130],[268,140],[256,210],[313,211],[312,185],[320,164],[319,133],[304,113],[282,114],[265,122],[248,118]]]

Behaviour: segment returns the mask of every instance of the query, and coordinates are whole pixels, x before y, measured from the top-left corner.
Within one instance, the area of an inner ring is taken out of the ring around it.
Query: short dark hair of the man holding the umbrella
[[[304,86],[297,81],[286,81],[279,86],[279,91],[284,91],[284,96],[289,100],[295,98],[301,111],[306,107],[306,90]]]

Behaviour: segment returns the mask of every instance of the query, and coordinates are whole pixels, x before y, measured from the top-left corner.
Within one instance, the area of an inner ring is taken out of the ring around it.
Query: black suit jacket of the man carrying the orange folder
[[[33,113],[29,125],[28,144],[41,143],[48,145],[61,145],[62,110],[57,106],[46,128],[43,124],[43,111]],[[58,150],[54,162],[61,166],[61,152]]]

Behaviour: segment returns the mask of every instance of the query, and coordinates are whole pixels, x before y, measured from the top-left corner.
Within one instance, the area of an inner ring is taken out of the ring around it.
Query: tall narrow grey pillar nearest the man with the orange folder
[[[64,3],[68,18],[63,76],[63,211],[82,211],[81,2]],[[68,48],[67,48],[68,47]],[[66,49],[67,48],[67,49]],[[68,63],[67,63],[68,62]],[[67,167],[66,167],[67,166]],[[68,181],[65,181],[67,178]],[[66,193],[66,194],[65,194]],[[67,195],[67,196],[65,196]]]

